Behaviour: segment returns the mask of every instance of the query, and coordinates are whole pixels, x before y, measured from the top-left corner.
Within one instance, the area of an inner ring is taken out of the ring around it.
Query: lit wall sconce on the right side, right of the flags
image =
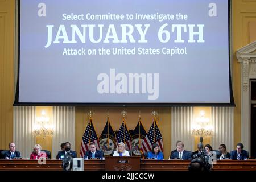
[[[200,136],[200,141],[203,141],[203,137],[212,137],[213,129],[209,125],[209,118],[204,117],[205,112],[200,111],[200,118],[196,118],[196,125],[192,125],[192,135]]]

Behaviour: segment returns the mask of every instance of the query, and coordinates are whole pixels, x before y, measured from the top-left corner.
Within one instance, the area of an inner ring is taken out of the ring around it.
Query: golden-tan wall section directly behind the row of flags
[[[153,110],[158,112],[156,117],[159,130],[164,142],[164,158],[168,159],[171,150],[171,108],[170,107],[76,107],[76,151],[80,151],[82,134],[88,123],[89,111],[93,112],[93,126],[98,137],[100,137],[107,121],[107,112],[109,111],[110,123],[113,130],[119,130],[122,124],[123,110],[127,111],[126,125],[129,130],[134,130],[139,121],[139,111],[141,111],[141,121],[146,130],[150,129],[153,123]]]

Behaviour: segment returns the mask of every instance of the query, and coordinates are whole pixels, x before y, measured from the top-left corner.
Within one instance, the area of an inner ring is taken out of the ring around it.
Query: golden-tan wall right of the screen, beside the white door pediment
[[[255,40],[256,0],[232,1],[232,50],[233,50],[233,93],[234,146],[241,140],[241,68],[236,59],[236,51]]]

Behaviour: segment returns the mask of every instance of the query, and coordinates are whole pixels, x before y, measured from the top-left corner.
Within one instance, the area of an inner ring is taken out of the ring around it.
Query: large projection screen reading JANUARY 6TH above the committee
[[[14,105],[234,105],[228,0],[20,0]]]

